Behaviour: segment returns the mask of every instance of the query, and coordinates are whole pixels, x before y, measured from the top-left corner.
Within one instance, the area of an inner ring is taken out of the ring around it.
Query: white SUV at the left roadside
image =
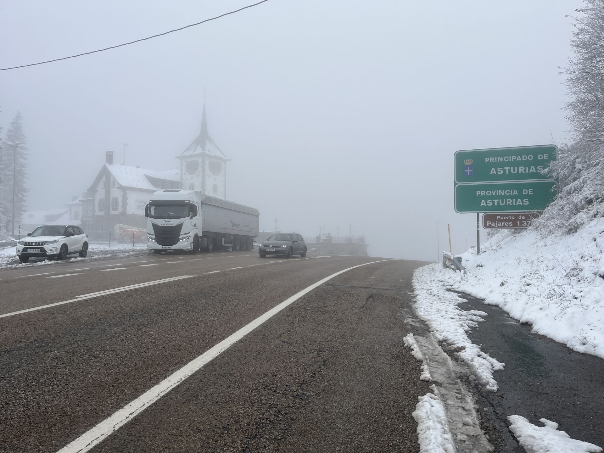
[[[17,243],[17,256],[22,263],[30,258],[65,260],[74,253],[80,257],[88,255],[88,236],[77,225],[38,226]]]

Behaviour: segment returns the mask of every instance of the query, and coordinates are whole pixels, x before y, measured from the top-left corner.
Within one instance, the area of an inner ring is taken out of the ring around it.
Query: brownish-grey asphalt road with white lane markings
[[[58,451],[298,292],[379,260],[215,252],[0,271],[0,451]],[[411,413],[430,389],[403,337],[425,333],[405,323],[423,264],[326,281],[92,451],[419,451]]]

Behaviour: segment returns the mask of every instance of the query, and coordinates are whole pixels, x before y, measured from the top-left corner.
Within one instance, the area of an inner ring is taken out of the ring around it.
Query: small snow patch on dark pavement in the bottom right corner
[[[507,417],[510,429],[520,445],[529,453],[601,453],[602,448],[593,443],[571,439],[558,424],[547,419],[539,421],[545,426],[536,426],[521,416]]]

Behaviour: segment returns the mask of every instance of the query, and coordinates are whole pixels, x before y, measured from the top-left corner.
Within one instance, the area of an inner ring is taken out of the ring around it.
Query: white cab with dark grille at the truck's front
[[[160,190],[145,208],[147,249],[199,251],[201,205],[193,190]]]

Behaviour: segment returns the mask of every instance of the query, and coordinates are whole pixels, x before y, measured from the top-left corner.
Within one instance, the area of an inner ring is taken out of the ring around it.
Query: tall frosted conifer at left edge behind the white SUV
[[[13,148],[9,143],[17,143],[19,146],[16,149]],[[8,222],[5,224],[5,230],[14,236],[14,231],[18,228],[21,222],[21,216],[25,212],[25,199],[27,198],[27,166],[28,166],[28,152],[27,152],[27,140],[23,133],[23,126],[21,123],[21,112],[17,112],[17,115],[11,121],[10,125],[6,130],[4,147],[1,150],[2,153],[2,167],[4,168],[5,181],[2,182],[2,193],[0,199],[2,199],[5,205],[4,216],[8,214]],[[13,163],[14,159],[14,163]],[[14,175],[13,175],[14,165]],[[8,176],[8,177],[6,177]],[[13,176],[14,176],[14,222],[11,225],[11,217],[13,210]]]

